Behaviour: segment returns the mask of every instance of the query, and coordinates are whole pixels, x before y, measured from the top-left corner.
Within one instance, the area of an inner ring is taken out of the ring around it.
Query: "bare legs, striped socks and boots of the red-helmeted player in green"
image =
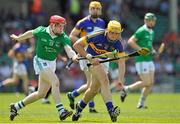
[[[52,81],[54,81],[54,82],[52,82]],[[62,103],[59,100],[60,92],[59,92],[59,81],[58,81],[57,76],[55,75],[54,72],[52,72],[51,69],[49,69],[49,70],[44,69],[39,75],[38,91],[30,94],[22,101],[19,101],[15,104],[10,105],[10,107],[11,107],[10,119],[11,120],[14,119],[14,117],[17,115],[17,110],[25,107],[26,105],[28,105],[30,103],[37,101],[40,98],[44,98],[50,87],[52,87],[52,95],[53,95],[53,99],[56,103],[56,108],[59,112],[60,120],[64,120],[67,117],[69,117],[70,115],[72,115],[71,111],[64,109]]]

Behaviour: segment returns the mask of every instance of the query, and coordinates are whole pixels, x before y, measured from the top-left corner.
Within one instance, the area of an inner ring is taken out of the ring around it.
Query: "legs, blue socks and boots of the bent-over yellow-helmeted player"
[[[117,120],[117,116],[120,114],[120,110],[118,107],[113,106],[107,72],[104,70],[104,66],[102,65],[94,66],[90,69],[93,77],[92,83],[90,88],[88,88],[88,90],[85,92],[83,99],[78,102],[76,106],[76,113],[73,115],[72,120],[77,121],[79,119],[80,113],[86,107],[87,102],[89,102],[89,100],[93,98],[99,91],[99,88],[101,88],[101,95],[104,103],[106,104],[111,120],[115,122]]]

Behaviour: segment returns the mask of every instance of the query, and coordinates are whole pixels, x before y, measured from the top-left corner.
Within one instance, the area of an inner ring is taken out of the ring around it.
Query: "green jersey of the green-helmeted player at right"
[[[150,51],[153,48],[153,40],[154,40],[154,31],[152,29],[148,29],[146,25],[141,26],[133,35],[137,41],[136,43],[140,47],[146,47]],[[152,55],[146,55],[146,56],[138,56],[135,58],[136,62],[142,62],[142,61],[152,61]]]

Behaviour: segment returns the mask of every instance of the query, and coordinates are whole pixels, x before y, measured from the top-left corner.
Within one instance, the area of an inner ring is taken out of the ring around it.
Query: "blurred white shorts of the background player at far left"
[[[13,64],[13,73],[19,76],[27,75],[27,69],[24,63],[14,62]]]

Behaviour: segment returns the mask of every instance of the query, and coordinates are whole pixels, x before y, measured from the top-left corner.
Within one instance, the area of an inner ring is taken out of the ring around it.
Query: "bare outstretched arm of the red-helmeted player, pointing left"
[[[26,39],[33,37],[33,30],[26,31],[25,33],[17,36],[15,34],[10,35],[10,38],[14,41],[24,42]]]

